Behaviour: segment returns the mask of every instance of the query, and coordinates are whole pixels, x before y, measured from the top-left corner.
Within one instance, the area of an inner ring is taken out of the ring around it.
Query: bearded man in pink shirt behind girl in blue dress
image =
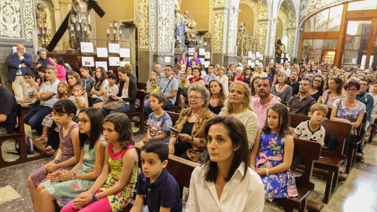
[[[259,98],[252,101],[254,112],[258,116],[259,129],[264,128],[267,120],[267,108],[270,104],[281,104],[272,95],[272,82],[268,77],[262,77],[258,80],[258,96]]]

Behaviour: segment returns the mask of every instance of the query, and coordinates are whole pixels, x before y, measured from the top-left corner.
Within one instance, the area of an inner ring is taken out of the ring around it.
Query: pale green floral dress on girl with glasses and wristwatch
[[[99,140],[103,140],[101,136]],[[98,142],[98,141],[97,141]],[[83,167],[77,170],[76,174],[86,174],[94,171],[95,165],[95,148],[89,149],[87,141],[83,147]],[[60,207],[64,207],[70,201],[74,200],[81,192],[87,191],[92,187],[95,180],[68,180],[64,182],[51,182],[50,180],[43,183],[44,188],[57,200]]]

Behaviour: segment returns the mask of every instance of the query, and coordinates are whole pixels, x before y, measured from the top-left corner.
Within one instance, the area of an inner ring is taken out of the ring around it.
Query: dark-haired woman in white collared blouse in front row
[[[264,186],[249,167],[244,124],[234,117],[216,117],[204,127],[208,155],[190,180],[186,212],[263,211]]]

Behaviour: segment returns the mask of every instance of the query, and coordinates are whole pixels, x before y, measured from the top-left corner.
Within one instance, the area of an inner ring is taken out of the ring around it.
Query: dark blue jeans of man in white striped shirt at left
[[[52,112],[52,108],[43,104],[34,107],[24,115],[24,123],[29,124],[37,132],[42,132],[43,118]]]

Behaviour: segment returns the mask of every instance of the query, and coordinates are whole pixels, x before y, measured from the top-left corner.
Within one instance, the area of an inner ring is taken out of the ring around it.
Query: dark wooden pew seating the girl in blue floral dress
[[[314,190],[314,183],[311,180],[313,172],[313,164],[315,160],[319,159],[321,145],[314,141],[302,140],[294,138],[293,155],[298,156],[305,164],[305,172],[296,177],[297,197],[290,198],[275,198],[274,202],[278,203],[285,211],[293,211],[298,209],[300,212],[307,210],[308,195]]]

